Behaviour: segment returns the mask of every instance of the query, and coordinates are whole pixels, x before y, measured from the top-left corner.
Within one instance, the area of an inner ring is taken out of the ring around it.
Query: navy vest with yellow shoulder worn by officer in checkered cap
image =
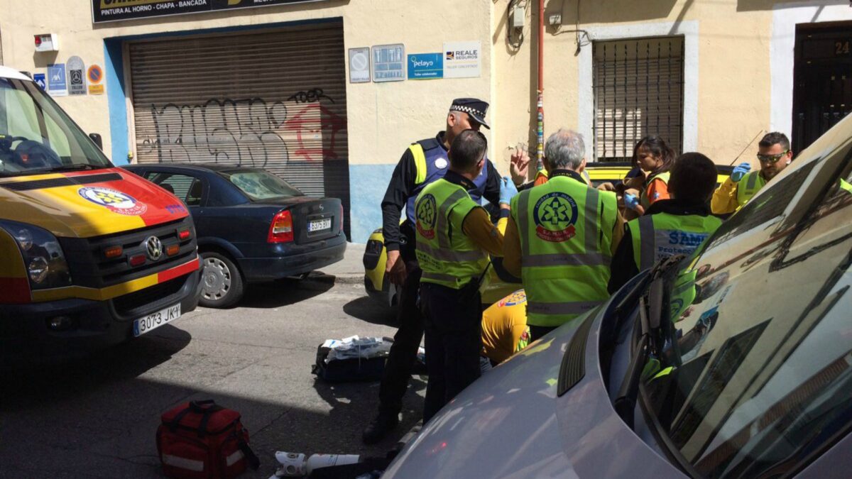
[[[406,216],[408,221],[413,223],[415,221],[414,201],[417,199],[417,195],[423,191],[423,188],[426,188],[426,185],[443,178],[450,162],[446,158],[446,150],[441,147],[437,137],[412,143],[408,150],[412,152],[417,170],[414,178],[414,191],[406,203]],[[474,180],[476,188],[469,191],[470,198],[477,204],[479,204],[482,195],[485,194],[485,184],[488,180],[488,161],[486,159],[486,166],[482,168],[480,175],[476,176]]]

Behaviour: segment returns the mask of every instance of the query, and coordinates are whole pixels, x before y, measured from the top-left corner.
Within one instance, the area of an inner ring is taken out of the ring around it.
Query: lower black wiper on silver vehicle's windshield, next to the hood
[[[664,306],[665,300],[665,273],[681,263],[682,256],[669,257],[657,263],[648,273],[651,283],[648,290],[639,298],[639,316],[637,318],[638,330],[634,336],[638,336],[633,346],[633,355],[630,365],[619,388],[619,395],[613,401],[615,412],[625,421],[630,429],[633,429],[633,412],[636,409],[636,399],[639,396],[639,381],[648,358],[652,355],[660,357],[665,345],[663,334],[663,321],[668,320]]]

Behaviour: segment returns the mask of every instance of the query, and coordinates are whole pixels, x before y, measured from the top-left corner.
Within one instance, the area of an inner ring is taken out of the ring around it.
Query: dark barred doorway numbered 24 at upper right
[[[798,153],[852,112],[852,22],[797,25],[795,55],[792,148]]]

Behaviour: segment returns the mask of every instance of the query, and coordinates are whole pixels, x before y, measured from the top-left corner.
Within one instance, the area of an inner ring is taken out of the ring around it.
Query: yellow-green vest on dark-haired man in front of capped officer
[[[421,282],[460,289],[484,273],[488,254],[462,233],[465,216],[481,208],[467,190],[440,178],[423,188],[414,208]]]

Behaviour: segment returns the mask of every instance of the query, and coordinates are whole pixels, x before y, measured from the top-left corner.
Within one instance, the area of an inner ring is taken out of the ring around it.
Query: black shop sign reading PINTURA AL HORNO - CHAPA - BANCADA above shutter
[[[92,21],[101,23],[316,1],[320,0],[92,0]]]

